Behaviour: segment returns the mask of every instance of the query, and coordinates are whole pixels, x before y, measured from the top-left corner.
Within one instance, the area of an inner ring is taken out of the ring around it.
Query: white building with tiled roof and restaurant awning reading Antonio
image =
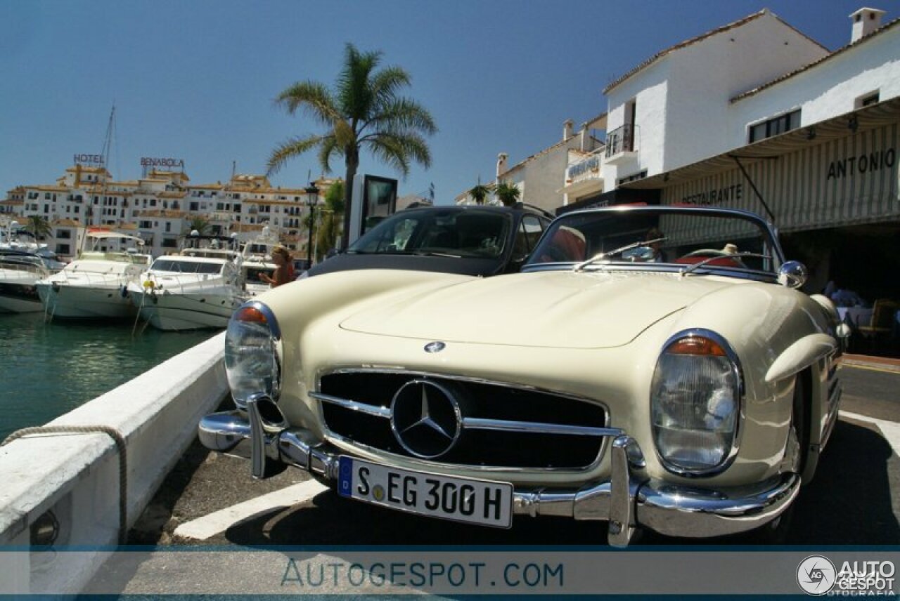
[[[887,275],[900,270],[900,20],[885,14],[852,13],[847,45],[829,51],[764,9],[644,60],[604,90],[602,152],[545,169],[563,192],[557,213],[746,208],[811,268],[808,289],[833,279],[900,298]]]

